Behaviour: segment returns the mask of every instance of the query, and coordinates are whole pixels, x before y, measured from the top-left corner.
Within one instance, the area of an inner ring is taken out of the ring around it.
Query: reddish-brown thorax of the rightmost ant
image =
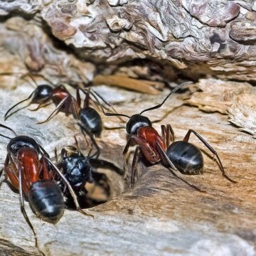
[[[142,140],[139,148],[142,150],[146,159],[151,162],[151,164],[160,161],[161,156],[156,145],[159,144],[159,146],[166,151],[166,144],[163,139],[161,139],[156,129],[153,127],[140,127],[137,131],[137,137]]]

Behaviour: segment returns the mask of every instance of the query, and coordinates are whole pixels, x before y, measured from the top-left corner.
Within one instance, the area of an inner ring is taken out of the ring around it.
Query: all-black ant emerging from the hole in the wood
[[[90,149],[87,156],[82,154],[76,137],[75,144],[76,146],[63,147],[63,149],[60,151],[59,157],[57,150],[55,149],[55,159],[58,160],[56,166],[58,169],[60,169],[65,178],[67,178],[75,193],[78,193],[80,197],[87,201],[87,198],[85,197],[87,194],[85,189],[86,183],[103,183],[103,187],[106,188],[105,191],[110,190],[109,186],[107,185],[107,178],[105,177],[105,174],[95,173],[95,171],[92,169],[92,165],[100,164],[100,166],[107,166],[110,163],[105,160],[92,159],[92,156],[90,156],[92,149]],[[95,163],[95,161],[97,161],[97,163]],[[117,174],[123,174],[122,171],[120,171],[116,166],[112,167],[114,167],[112,169],[114,169]],[[65,183],[59,180],[57,180],[57,182],[63,191],[63,194],[67,197],[70,196],[69,191],[66,190]]]

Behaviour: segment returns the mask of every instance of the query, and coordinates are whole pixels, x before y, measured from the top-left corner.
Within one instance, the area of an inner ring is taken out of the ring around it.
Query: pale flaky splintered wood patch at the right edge
[[[195,92],[187,100],[206,112],[228,114],[229,121],[256,137],[256,90],[241,82],[221,80],[200,80],[196,85],[201,92]]]

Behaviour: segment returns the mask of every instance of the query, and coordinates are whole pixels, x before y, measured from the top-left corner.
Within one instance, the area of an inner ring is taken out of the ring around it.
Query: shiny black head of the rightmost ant
[[[137,134],[137,129],[139,127],[151,127],[151,121],[148,117],[142,116],[141,114],[134,114],[130,117],[126,125],[127,134],[134,135]]]

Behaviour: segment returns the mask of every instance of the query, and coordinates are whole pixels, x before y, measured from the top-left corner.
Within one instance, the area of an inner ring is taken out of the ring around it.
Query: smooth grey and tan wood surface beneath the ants
[[[24,97],[28,90],[32,90],[29,85],[21,85],[12,92],[1,89],[1,116],[7,106]],[[127,114],[139,112],[163,97],[107,87],[97,90],[105,92],[109,100],[115,95],[115,102],[119,102],[117,111]],[[8,247],[13,255],[22,255],[24,251],[44,255],[254,255],[255,139],[231,125],[226,115],[182,105],[181,97],[189,96],[187,92],[176,95],[161,110],[149,113],[152,120],[161,119],[154,127],[159,130],[160,124],[172,124],[177,139],[182,139],[188,129],[195,129],[218,151],[225,171],[237,184],[225,180],[212,156],[206,154],[203,175],[185,178],[207,193],[194,191],[161,165],[147,168],[143,164],[139,165],[133,191],[122,193],[127,183],[105,170],[114,197],[90,209],[95,218],[65,210],[58,224],[52,225],[36,218],[26,204],[39,242],[36,248],[33,234],[19,210],[18,195],[4,183],[0,190],[0,236],[5,245],[0,243],[1,250]],[[73,144],[73,134],[79,132],[72,118],[67,119],[64,114],[58,114],[48,124],[35,124],[53,107],[38,112],[22,110],[6,124],[18,134],[36,138],[53,154],[55,146],[60,149]],[[104,118],[105,127],[117,125],[117,120]],[[26,126],[21,125],[24,123]],[[6,141],[1,139],[1,162],[6,155]],[[126,142],[124,129],[105,128],[98,142],[102,158],[120,166]],[[205,149],[193,136],[191,142]]]

